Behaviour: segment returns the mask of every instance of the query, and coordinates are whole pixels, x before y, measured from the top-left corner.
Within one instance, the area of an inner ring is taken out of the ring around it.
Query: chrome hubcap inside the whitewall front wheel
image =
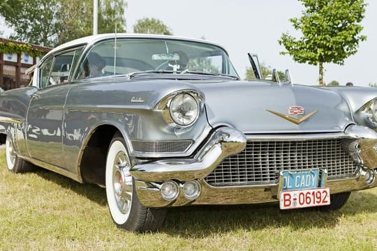
[[[128,213],[132,201],[132,176],[126,154],[119,152],[114,158],[112,167],[112,186],[117,206],[121,213]]]

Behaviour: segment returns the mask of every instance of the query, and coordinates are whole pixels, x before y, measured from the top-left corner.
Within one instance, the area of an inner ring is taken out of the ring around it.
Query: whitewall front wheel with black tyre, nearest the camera
[[[143,206],[129,169],[131,162],[121,135],[112,138],[106,159],[106,197],[112,220],[128,231],[156,231],[163,225],[166,209]]]

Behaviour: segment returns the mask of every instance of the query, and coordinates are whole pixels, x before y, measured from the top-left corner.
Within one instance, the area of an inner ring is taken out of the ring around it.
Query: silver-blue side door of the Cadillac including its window
[[[32,158],[66,168],[63,116],[73,66],[81,48],[51,55],[38,69],[39,89],[31,95],[27,114],[27,151]]]

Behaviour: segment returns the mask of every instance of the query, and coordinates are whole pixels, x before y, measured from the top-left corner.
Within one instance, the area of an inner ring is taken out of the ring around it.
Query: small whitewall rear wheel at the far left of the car
[[[17,156],[13,141],[9,135],[6,136],[6,167],[10,172],[16,174],[30,172],[35,169],[33,164]]]

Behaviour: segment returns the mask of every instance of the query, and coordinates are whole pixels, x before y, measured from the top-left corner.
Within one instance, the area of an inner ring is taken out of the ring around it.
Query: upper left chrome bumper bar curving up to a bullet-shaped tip
[[[221,161],[240,153],[245,146],[246,138],[242,132],[233,128],[219,128],[192,159],[159,160],[135,165],[130,172],[142,181],[158,182],[175,178],[179,181],[190,181],[205,178]]]

